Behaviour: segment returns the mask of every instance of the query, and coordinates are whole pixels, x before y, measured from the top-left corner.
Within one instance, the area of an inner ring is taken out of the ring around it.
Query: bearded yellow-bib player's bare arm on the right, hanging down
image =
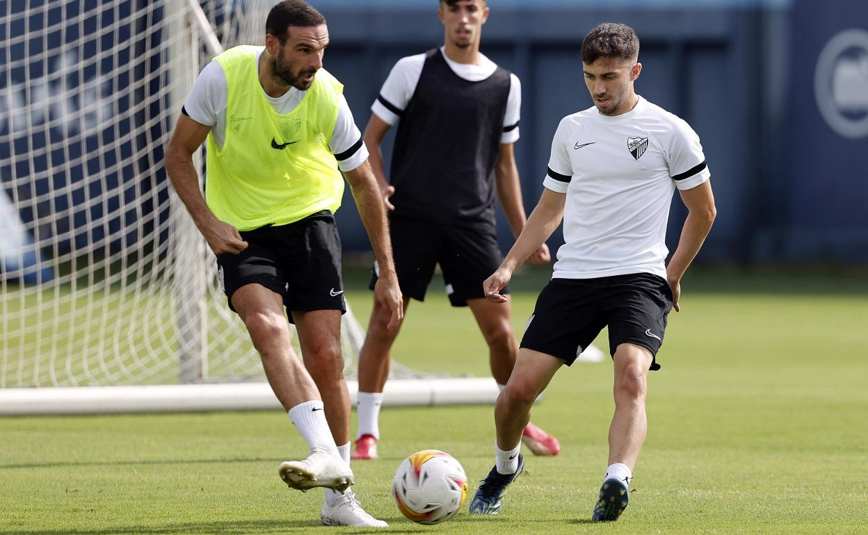
[[[389,226],[385,217],[385,206],[377,179],[371,169],[371,164],[365,160],[362,165],[345,173],[346,181],[352,189],[352,197],[356,199],[358,215],[362,218],[374,256],[379,265],[379,277],[374,288],[374,295],[380,303],[391,310],[391,319],[387,327],[395,329],[404,319],[404,298],[398,286],[398,274],[395,272],[395,262],[391,257],[391,239]]]

